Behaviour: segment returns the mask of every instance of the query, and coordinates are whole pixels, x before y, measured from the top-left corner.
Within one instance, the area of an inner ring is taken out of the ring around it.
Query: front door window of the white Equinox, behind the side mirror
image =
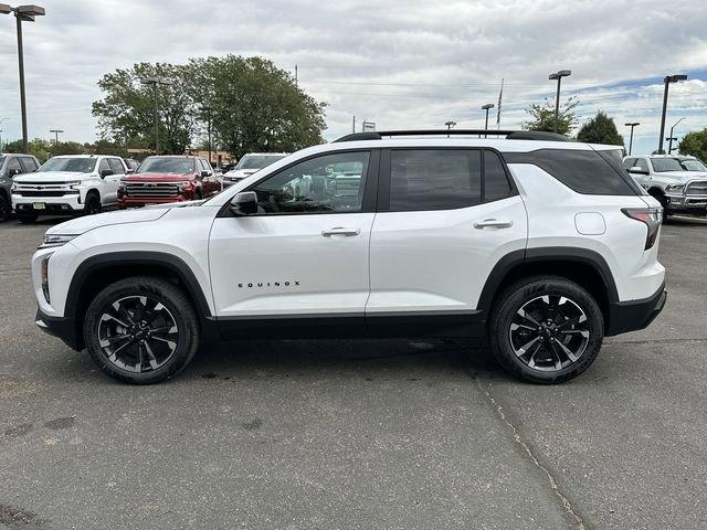
[[[335,152],[284,169],[251,188],[261,213],[360,212],[369,151]]]

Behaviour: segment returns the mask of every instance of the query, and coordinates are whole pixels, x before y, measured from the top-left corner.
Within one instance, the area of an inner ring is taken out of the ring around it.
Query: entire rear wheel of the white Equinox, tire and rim
[[[578,284],[535,276],[502,293],[488,331],[502,367],[523,380],[553,384],[576,378],[594,362],[604,319],[597,300]]]

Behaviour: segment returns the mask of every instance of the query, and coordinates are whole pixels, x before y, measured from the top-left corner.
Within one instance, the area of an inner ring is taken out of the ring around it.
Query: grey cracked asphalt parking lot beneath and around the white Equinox
[[[663,229],[658,320],[550,388],[458,341],[249,342],[117,384],[34,329],[45,227],[0,225],[0,529],[707,527],[707,223]]]

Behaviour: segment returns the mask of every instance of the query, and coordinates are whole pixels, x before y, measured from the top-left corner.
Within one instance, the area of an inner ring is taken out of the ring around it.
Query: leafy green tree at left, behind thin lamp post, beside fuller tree
[[[140,80],[158,77],[171,85],[145,85]],[[155,91],[159,109],[158,128],[161,152],[182,153],[194,131],[193,105],[184,89],[184,66],[168,63],[138,63],[129,70],[116,70],[98,81],[104,98],[94,102],[104,140],[119,145],[139,144],[155,148]]]

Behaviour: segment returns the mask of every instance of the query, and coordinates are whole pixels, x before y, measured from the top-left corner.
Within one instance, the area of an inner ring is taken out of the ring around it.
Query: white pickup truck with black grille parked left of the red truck
[[[126,172],[119,157],[53,157],[35,172],[14,177],[12,206],[22,223],[33,223],[40,215],[98,213],[117,204],[118,184]]]

